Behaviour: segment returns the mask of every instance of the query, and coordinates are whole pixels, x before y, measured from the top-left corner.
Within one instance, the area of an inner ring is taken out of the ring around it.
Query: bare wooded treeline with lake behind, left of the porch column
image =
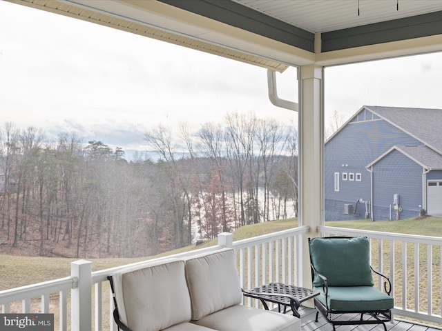
[[[148,256],[296,216],[296,129],[254,114],[174,136],[158,126],[144,134],[155,161],[75,134],[0,133],[0,243],[40,255]]]

